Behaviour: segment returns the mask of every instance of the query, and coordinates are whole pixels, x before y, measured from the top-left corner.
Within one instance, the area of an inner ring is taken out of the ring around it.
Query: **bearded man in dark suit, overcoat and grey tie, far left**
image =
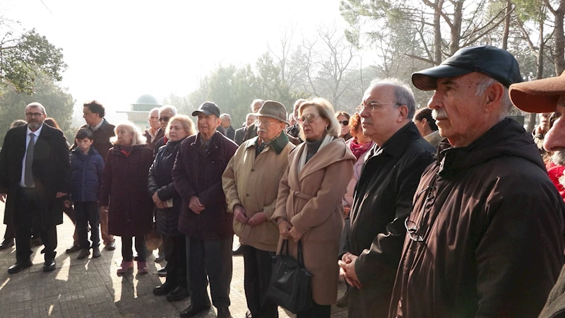
[[[25,107],[25,126],[10,129],[0,151],[0,200],[6,195],[4,223],[13,220],[16,264],[8,273],[32,266],[32,223],[40,224],[45,254],[43,271],[55,269],[57,225],[63,223],[63,197],[71,192],[71,163],[66,139],[59,129],[44,125],[39,102]]]

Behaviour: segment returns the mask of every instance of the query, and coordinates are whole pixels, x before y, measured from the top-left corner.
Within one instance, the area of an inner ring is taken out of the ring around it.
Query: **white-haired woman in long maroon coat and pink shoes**
[[[133,237],[136,237],[138,273],[147,273],[144,235],[153,223],[153,201],[147,192],[153,150],[131,122],[116,126],[115,133],[110,140],[114,148],[108,151],[102,174],[100,209],[108,211],[108,232],[121,236],[123,259],[118,274],[133,268]]]

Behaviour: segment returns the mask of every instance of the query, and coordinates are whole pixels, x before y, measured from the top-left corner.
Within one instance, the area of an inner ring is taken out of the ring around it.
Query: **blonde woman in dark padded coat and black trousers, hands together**
[[[183,300],[189,295],[189,286],[186,284],[186,239],[179,232],[182,197],[174,188],[171,172],[181,142],[194,134],[194,123],[188,116],[172,117],[165,130],[167,144],[159,148],[149,170],[148,189],[157,206],[157,231],[162,234],[165,245],[170,247],[165,252],[167,281],[155,287],[153,293],[158,296],[167,295],[169,301]]]

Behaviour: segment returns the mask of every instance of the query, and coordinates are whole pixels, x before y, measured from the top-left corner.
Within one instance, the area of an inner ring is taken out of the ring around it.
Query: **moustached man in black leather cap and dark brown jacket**
[[[441,136],[422,175],[389,317],[537,317],[563,262],[563,200],[531,134],[506,117],[518,62],[466,47],[412,74]]]

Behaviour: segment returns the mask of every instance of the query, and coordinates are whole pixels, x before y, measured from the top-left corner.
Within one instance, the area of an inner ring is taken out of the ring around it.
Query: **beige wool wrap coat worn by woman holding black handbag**
[[[319,305],[338,298],[338,252],[343,230],[341,199],[353,175],[353,155],[343,139],[328,143],[298,173],[302,143],[288,157],[289,166],[280,181],[273,220],[286,218],[302,233],[304,264],[313,275],[312,296]],[[283,243],[279,238],[278,250]],[[289,252],[297,257],[297,244],[289,240]]]

